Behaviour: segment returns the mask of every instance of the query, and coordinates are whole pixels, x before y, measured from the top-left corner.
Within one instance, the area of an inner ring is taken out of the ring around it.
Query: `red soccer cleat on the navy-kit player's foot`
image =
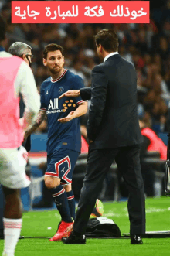
[[[49,241],[61,241],[62,237],[69,237],[72,231],[73,222],[67,223],[62,221],[56,234],[51,239],[49,239]]]

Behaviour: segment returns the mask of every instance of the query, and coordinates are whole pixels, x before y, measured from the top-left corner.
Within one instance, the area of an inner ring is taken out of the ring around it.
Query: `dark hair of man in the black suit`
[[[97,46],[101,45],[108,52],[117,52],[118,50],[118,37],[114,32],[114,29],[102,29],[94,36],[95,43]]]

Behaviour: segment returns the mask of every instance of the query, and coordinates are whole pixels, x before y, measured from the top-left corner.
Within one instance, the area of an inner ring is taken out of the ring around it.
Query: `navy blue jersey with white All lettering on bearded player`
[[[46,111],[48,120],[47,154],[53,154],[59,148],[71,149],[80,152],[80,118],[74,118],[66,123],[57,121],[65,118],[70,111],[75,111],[83,101],[81,97],[71,98],[59,96],[67,90],[79,90],[83,88],[83,80],[65,70],[56,80],[47,78],[41,85],[41,111]]]

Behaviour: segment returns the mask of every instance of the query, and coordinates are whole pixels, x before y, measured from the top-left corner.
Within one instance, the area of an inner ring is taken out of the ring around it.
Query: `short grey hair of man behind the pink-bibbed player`
[[[31,49],[32,47],[26,43],[15,42],[9,47],[8,52],[12,55],[21,57],[23,54],[29,53]]]

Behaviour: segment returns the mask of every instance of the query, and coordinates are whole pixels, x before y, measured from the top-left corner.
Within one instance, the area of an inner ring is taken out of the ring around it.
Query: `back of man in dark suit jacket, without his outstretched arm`
[[[97,136],[93,143],[96,148],[117,148],[136,145],[142,142],[137,114],[137,77],[132,63],[124,60],[119,54],[110,56],[104,63],[93,69],[93,84],[96,77],[104,72],[107,83],[104,107]],[[102,95],[100,95],[102,97]]]

